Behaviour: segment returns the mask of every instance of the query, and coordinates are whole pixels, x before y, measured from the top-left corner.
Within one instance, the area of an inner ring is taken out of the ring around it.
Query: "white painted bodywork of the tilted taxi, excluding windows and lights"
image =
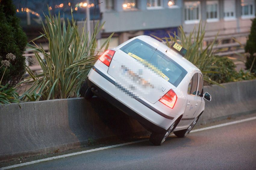
[[[120,50],[120,48],[136,38],[160,50],[164,55],[170,57],[170,59],[187,71],[185,77],[183,77],[176,87]],[[201,96],[187,94],[188,85],[192,76],[195,73],[201,73],[201,71],[176,51],[149,36],[132,38],[111,50],[115,50],[116,52],[111,60],[110,66],[108,67],[98,60],[89,72],[88,79],[98,88],[108,93],[127,108],[130,108],[139,116],[165,130],[167,130],[176,119],[182,116],[180,123],[174,130],[176,131],[186,129],[195,117],[204,110],[204,100]],[[125,69],[126,71],[124,71]],[[149,86],[146,88],[142,87],[142,84],[139,84],[137,80],[134,81],[131,75],[127,74],[127,70],[134,73],[133,75],[139,75],[155,88],[150,88]],[[136,90],[134,90],[132,86],[136,86]],[[159,99],[170,89],[172,89],[177,96],[177,101],[173,109],[159,102]],[[143,124],[143,122],[141,123]],[[154,131],[154,129],[151,130]]]

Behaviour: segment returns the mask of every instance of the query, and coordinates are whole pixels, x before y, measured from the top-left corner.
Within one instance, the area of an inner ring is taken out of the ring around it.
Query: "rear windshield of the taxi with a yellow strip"
[[[120,50],[152,68],[175,87],[187,74],[187,71],[170,57],[139,39],[131,41]]]

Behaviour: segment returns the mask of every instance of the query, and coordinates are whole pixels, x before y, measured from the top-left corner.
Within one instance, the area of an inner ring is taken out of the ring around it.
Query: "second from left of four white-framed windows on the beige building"
[[[218,20],[219,9],[218,1],[207,1],[206,2],[206,17],[207,21]]]

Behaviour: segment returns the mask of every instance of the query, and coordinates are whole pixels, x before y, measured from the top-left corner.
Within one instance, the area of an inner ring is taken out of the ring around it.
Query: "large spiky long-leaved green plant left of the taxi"
[[[73,16],[72,16],[73,17]],[[31,87],[21,96],[24,101],[29,100],[28,96],[33,94],[42,94],[42,100],[64,99],[79,96],[79,88],[85,80],[90,68],[99,57],[100,50],[106,45],[108,48],[111,34],[102,44],[101,48],[96,50],[96,35],[103,26],[99,22],[95,25],[94,32],[90,37],[83,26],[82,31],[78,29],[75,20],[64,20],[61,22],[60,14],[58,16],[45,16],[43,24],[43,33],[38,38],[44,37],[48,41],[49,51],[45,52],[43,47],[27,44],[34,50],[36,60],[42,67],[39,74],[33,73],[27,69],[30,77],[23,83],[29,83]],[[45,60],[41,59],[40,54]],[[25,95],[26,94],[26,95]],[[36,98],[39,100],[40,97]]]

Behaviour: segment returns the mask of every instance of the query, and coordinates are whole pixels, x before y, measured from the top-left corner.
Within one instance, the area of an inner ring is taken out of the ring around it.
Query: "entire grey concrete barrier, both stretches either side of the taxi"
[[[199,123],[256,112],[256,80],[205,87],[212,95]],[[100,103],[100,107],[99,107]],[[0,105],[0,161],[79,148],[88,140],[148,135],[133,118],[99,98]]]

